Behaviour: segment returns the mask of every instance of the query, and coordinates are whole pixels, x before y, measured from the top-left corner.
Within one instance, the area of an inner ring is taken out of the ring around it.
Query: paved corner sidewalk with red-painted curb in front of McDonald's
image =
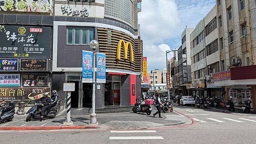
[[[79,112],[80,111],[80,112]],[[72,115],[72,112],[75,115]],[[153,109],[156,112],[156,109]],[[27,115],[16,115],[12,121],[0,124],[0,130],[58,130],[58,129],[141,129],[149,127],[166,127],[188,123],[186,117],[176,113],[162,113],[163,118],[158,115],[153,118],[151,115],[138,114],[133,112],[97,114],[97,125],[90,125],[90,113],[83,109],[71,110],[73,126],[63,126],[66,120],[66,110],[59,113],[54,119],[43,121],[32,120],[26,122]]]

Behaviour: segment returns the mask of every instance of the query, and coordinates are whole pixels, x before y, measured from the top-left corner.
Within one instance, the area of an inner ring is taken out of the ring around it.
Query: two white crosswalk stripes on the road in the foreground
[[[123,136],[124,133],[156,133],[155,130],[111,130],[110,133],[120,133],[122,136],[110,136],[109,140],[152,140],[164,139],[162,136]],[[149,135],[149,134],[148,134]],[[154,134],[155,135],[155,134]]]

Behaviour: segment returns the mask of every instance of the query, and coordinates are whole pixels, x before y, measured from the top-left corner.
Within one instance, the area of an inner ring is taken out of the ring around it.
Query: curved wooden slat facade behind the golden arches
[[[143,44],[142,40],[113,29],[98,28],[99,51],[106,54],[106,67],[111,69],[125,69],[133,72],[141,72]],[[128,49],[127,59],[124,59],[124,51],[121,48],[121,59],[116,59],[116,51],[119,40],[131,42],[134,54],[134,61],[130,61],[130,50]]]

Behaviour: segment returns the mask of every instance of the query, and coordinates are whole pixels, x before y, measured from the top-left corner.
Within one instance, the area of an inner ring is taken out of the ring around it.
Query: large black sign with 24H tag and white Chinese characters
[[[50,58],[50,27],[0,25],[0,39],[2,58]]]

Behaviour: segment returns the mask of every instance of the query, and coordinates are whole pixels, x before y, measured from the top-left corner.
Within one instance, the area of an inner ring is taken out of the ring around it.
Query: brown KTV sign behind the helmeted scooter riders
[[[0,101],[1,100],[21,100],[23,95],[23,100],[34,100],[41,98],[44,92],[48,92],[51,95],[51,87],[18,87],[18,88],[0,88]]]

